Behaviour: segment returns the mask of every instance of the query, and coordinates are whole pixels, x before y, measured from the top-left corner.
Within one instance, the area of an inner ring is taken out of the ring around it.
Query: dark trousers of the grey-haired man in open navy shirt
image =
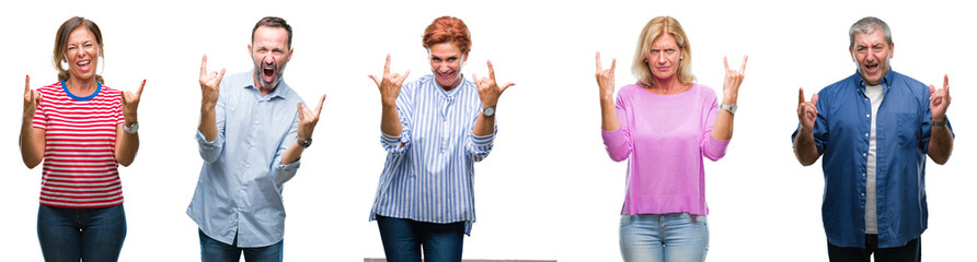
[[[828,260],[831,262],[869,262],[875,254],[876,262],[919,262],[922,260],[922,237],[909,240],[906,246],[878,248],[878,235],[865,235],[865,248],[842,248],[828,242]]]

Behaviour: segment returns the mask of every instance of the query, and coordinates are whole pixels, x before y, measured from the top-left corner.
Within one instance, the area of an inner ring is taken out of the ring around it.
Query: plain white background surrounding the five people
[[[733,67],[749,55],[736,133],[725,158],[706,164],[711,261],[825,261],[820,163],[802,167],[791,152],[797,87],[807,94],[854,72],[848,27],[875,15],[893,28],[896,71],[941,85],[950,74],[947,115],[957,134],[945,166],[927,165],[929,261],[968,258],[977,235],[972,63],[977,24],[962,1],[593,3],[535,1],[14,1],[4,4],[0,70],[0,253],[41,261],[36,216],[41,166],[21,162],[25,74],[32,87],[56,81],[50,52],[57,27],[73,15],[104,35],[107,85],[133,90],[143,79],[141,148],[120,168],[128,236],[122,261],[195,261],[197,229],[184,214],[202,159],[193,135],[199,119],[198,70],[252,67],[246,45],[265,15],[294,26],[295,56],[286,81],[307,102],[326,93],[315,143],[286,184],[285,257],[290,261],[361,261],[383,255],[367,222],[384,153],[380,100],[367,75],[394,71],[409,81],[430,71],[421,34],[437,16],[461,17],[473,47],[463,72],[484,75],[492,59],[501,82],[515,82],[498,105],[491,157],[476,164],[478,223],[467,259],[617,261],[624,163],[607,156],[599,133],[594,52],[617,58],[617,85],[630,73],[636,37],[658,15],[677,17],[692,47],[698,82],[722,88],[723,56]],[[720,94],[721,96],[721,94]]]

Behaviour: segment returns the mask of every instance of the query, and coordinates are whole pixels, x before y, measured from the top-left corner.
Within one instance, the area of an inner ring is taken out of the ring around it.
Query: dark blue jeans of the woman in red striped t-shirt
[[[126,240],[126,212],[122,204],[97,209],[42,204],[37,210],[37,240],[48,262],[118,261]]]

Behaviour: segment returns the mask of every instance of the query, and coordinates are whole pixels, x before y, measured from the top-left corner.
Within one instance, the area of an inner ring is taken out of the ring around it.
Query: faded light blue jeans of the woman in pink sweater
[[[621,215],[624,261],[705,261],[709,222],[689,213]]]

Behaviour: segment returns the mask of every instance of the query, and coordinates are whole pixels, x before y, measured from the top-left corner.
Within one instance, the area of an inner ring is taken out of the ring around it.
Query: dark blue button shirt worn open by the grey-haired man
[[[821,219],[828,242],[835,246],[865,248],[865,165],[873,117],[878,247],[905,246],[927,228],[929,88],[892,70],[882,86],[877,116],[872,116],[872,103],[858,72],[818,92],[814,142],[824,155]],[[794,131],[791,139],[796,135]]]

